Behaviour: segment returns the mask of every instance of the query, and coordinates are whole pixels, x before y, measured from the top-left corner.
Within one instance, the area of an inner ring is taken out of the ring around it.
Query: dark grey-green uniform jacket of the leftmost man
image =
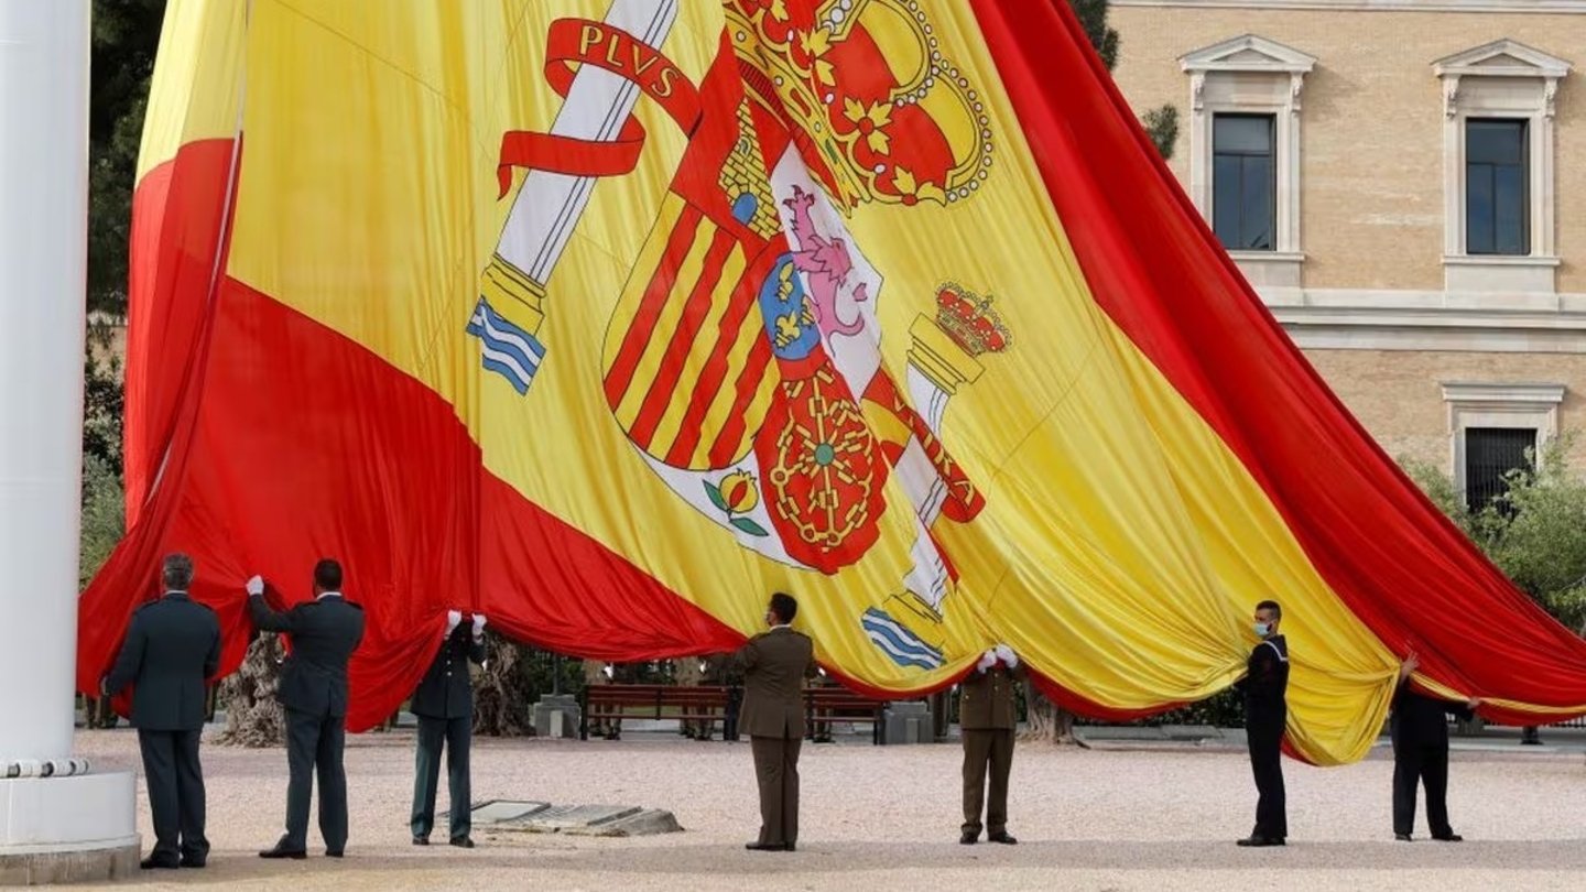
[[[187,592],[167,592],[132,613],[106,694],[132,690],[132,724],[149,732],[198,730],[220,667],[220,621]]]

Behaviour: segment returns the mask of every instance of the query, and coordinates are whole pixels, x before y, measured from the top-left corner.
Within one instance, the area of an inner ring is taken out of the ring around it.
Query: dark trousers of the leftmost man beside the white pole
[[[149,813],[154,819],[154,851],[149,855],[157,860],[203,862],[209,855],[209,840],[203,835],[203,767],[198,763],[201,735],[201,729],[138,729],[143,781],[149,787]]]

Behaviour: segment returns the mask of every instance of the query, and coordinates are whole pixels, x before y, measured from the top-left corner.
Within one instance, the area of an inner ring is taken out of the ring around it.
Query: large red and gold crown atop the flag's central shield
[[[985,100],[942,56],[917,0],[726,0],[725,8],[750,95],[793,127],[806,163],[842,208],[961,202],[990,176]]]

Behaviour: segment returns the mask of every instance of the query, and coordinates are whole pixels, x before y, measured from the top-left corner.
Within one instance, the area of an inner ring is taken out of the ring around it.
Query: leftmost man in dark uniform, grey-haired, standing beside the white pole
[[[187,597],[192,559],[167,556],[160,576],[165,597],[133,611],[116,665],[100,682],[106,697],[133,686],[132,724],[138,727],[155,840],[144,870],[203,867],[209,857],[198,740],[206,679],[220,667],[220,621]]]

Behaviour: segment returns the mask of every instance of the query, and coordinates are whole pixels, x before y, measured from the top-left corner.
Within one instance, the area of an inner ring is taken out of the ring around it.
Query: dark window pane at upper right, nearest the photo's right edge
[[[1465,252],[1530,254],[1526,121],[1465,121]]]

